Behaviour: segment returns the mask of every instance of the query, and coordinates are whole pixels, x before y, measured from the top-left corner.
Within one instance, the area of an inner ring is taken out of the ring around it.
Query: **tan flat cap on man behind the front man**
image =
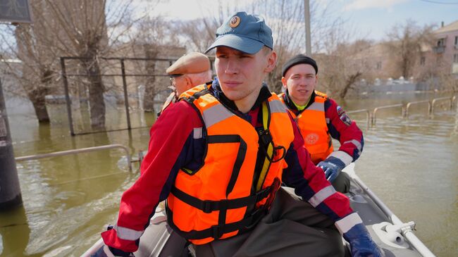
[[[210,70],[210,60],[206,55],[192,52],[181,56],[167,68],[166,73],[171,76],[183,74],[203,73]]]

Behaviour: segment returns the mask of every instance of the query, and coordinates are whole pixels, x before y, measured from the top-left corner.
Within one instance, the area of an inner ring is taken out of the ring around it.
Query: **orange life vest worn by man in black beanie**
[[[283,94],[280,95],[280,99],[285,104]],[[296,120],[297,127],[304,137],[304,146],[310,153],[311,161],[315,164],[326,159],[334,150],[324,112],[326,99],[328,99],[326,94],[315,91],[314,103],[299,112],[298,115],[287,108],[292,118]]]

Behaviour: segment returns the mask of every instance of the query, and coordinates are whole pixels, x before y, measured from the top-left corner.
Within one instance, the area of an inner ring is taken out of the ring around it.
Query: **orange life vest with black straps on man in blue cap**
[[[194,87],[180,96],[199,111],[206,153],[202,168],[178,172],[166,204],[169,225],[193,244],[233,237],[256,225],[280,187],[286,149],[294,139],[276,94],[262,104],[267,130],[258,133],[209,94],[209,87]],[[264,168],[256,175],[259,139],[270,144]]]

